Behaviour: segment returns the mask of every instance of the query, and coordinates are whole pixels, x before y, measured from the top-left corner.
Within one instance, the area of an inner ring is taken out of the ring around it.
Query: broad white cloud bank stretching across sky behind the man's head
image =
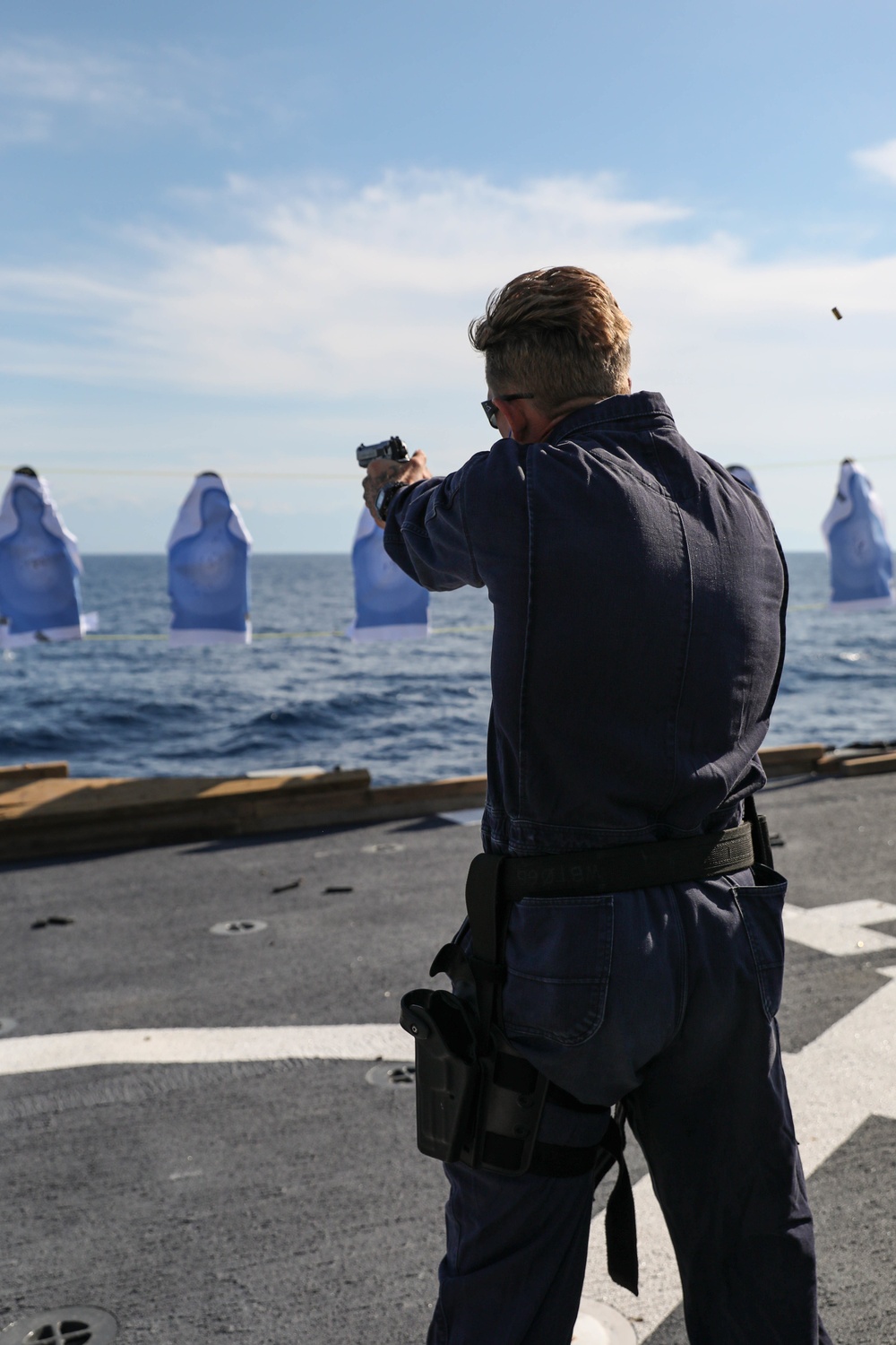
[[[449,390],[469,378],[465,325],[488,292],[519,270],[572,261],[606,277],[634,319],[635,352],[665,366],[715,366],[735,351],[767,362],[787,348],[791,378],[801,346],[830,336],[834,303],[849,323],[896,312],[896,257],[756,262],[732,237],[676,242],[668,229],[686,211],[619,196],[606,178],[498,187],[406,174],[357,192],[279,195],[238,180],[220,214],[230,241],[132,235],[140,256],[130,269],[120,256],[124,280],[0,272],[7,309],[48,321],[46,340],[7,339],[3,367],[222,394]],[[742,386],[736,364],[728,382]]]

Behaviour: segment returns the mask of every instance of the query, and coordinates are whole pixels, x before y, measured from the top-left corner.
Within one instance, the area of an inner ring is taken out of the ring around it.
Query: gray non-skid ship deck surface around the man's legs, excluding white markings
[[[891,776],[770,787],[763,806],[786,842],[776,855],[794,904],[896,902],[895,804]],[[394,1022],[459,920],[477,849],[474,827],[402,822],[7,868],[0,1017],[20,1037]],[[74,923],[32,928],[48,916]],[[210,932],[232,919],[267,927]],[[895,964],[896,947],[790,944],[785,1050],[877,1003],[892,985],[877,968]],[[415,1150],[412,1089],[372,1087],[369,1068],[0,1075],[0,1328],[95,1303],[118,1317],[122,1342],[419,1345],[443,1178]],[[810,1190],[833,1340],[896,1341],[893,1115],[860,1118]],[[682,1345],[680,1313],[647,1338]]]

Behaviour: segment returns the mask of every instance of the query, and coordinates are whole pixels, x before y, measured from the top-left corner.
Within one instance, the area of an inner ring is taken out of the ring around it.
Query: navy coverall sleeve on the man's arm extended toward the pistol
[[[449,476],[406,487],[390,506],[386,551],[423,588],[484,586],[470,542],[466,492],[478,460],[486,456],[477,453]]]

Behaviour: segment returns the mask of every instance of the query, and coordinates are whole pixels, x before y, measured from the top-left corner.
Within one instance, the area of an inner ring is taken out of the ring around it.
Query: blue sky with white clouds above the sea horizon
[[[85,553],[204,469],[259,551],[347,551],[355,447],[486,449],[466,324],[578,264],[786,547],[846,455],[896,527],[893,50],[868,0],[4,0],[0,476]]]

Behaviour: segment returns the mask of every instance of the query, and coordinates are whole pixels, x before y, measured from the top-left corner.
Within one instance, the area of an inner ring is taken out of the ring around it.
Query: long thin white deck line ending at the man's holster
[[[236,1060],[407,1060],[408,1034],[391,1022],[334,1028],[137,1028],[4,1037],[0,1075],[85,1065],[197,1065]]]

